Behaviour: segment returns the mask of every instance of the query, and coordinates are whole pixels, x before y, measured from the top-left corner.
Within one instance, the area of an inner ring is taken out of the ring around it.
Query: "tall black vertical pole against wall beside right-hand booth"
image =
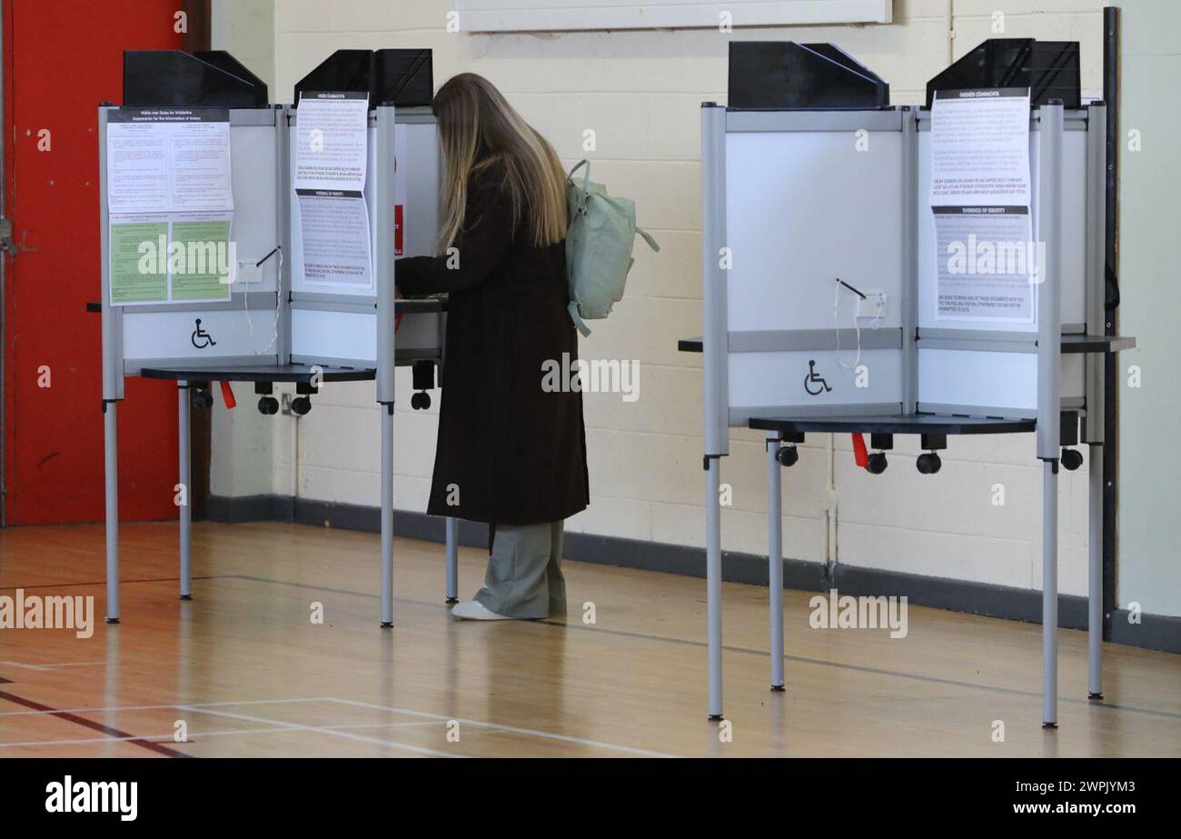
[[[1120,305],[1120,8],[1103,9],[1103,100],[1107,103],[1105,178],[1105,307],[1104,333],[1116,334]],[[1118,356],[1103,358],[1103,639],[1111,640],[1115,612],[1116,518],[1120,503],[1118,427],[1116,423],[1122,378]]]

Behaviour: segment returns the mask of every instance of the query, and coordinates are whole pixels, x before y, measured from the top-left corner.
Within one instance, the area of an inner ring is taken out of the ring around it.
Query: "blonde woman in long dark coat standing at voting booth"
[[[566,177],[553,147],[483,77],[451,78],[432,109],[444,173],[439,255],[396,267],[403,294],[449,293],[428,512],[495,533],[484,586],[452,614],[565,614],[563,520],[589,502],[582,396],[542,386],[547,362],[578,358]]]

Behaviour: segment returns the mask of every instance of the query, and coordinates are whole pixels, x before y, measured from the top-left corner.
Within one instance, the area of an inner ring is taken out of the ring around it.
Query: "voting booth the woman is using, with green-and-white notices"
[[[394,301],[394,262],[433,253],[438,141],[429,50],[340,51],[269,105],[223,52],[124,54],[124,105],[99,108],[109,623],[119,620],[117,405],[124,378],[178,388],[181,597],[191,597],[189,407],[276,383],[307,414],[333,382],[380,405],[381,624],[393,620],[394,369],[415,408],[443,362],[444,298]],[[233,407],[233,405],[229,405]],[[457,526],[446,522],[448,598]]]

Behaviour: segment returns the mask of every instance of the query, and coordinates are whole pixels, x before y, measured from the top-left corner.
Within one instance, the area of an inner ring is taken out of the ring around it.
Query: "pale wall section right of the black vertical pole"
[[[1181,183],[1181,4],[1121,0],[1123,99],[1121,167],[1120,330],[1137,346],[1120,356],[1120,565],[1117,601],[1123,609],[1181,616],[1177,499],[1181,497],[1181,414],[1176,313],[1176,191]],[[1138,131],[1138,151],[1129,132]],[[1129,369],[1141,386],[1129,386]]]

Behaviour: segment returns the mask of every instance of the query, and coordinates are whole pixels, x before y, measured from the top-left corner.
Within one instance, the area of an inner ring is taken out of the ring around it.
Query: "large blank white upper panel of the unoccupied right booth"
[[[886,293],[880,326],[900,326],[902,135],[874,131],[726,135],[730,331],[853,327],[840,277]],[[870,321],[862,319],[862,326]]]

